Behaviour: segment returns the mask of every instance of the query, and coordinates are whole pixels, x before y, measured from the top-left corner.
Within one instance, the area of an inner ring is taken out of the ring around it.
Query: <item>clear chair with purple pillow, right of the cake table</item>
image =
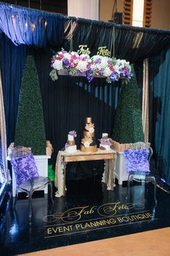
[[[124,151],[125,171],[129,174],[126,200],[128,200],[131,182],[141,182],[142,184],[151,182],[154,186],[153,197],[155,203],[157,203],[156,178],[151,174],[149,168],[149,162],[152,155],[153,150],[150,147],[150,144],[146,142],[136,142],[130,149]]]

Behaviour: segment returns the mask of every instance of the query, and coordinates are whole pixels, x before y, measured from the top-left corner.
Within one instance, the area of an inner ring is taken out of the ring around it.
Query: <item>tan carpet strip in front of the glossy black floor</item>
[[[46,249],[22,256],[169,256],[169,237],[170,228],[156,229],[95,242]]]

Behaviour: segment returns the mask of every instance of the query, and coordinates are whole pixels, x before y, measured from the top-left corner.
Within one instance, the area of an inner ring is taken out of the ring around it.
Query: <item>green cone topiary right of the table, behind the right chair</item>
[[[112,139],[120,143],[144,141],[138,83],[132,65],[133,77],[122,85],[115,117]]]

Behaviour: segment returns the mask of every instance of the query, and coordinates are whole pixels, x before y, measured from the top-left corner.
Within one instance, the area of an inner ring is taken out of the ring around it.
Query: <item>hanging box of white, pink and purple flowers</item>
[[[106,77],[107,82],[117,81],[120,78],[130,80],[132,77],[130,63],[125,59],[100,55],[90,57],[88,54],[79,55],[75,51],[67,52],[63,48],[53,56],[51,67],[53,70],[50,72],[50,77],[53,81],[58,79],[58,72],[63,69],[67,69],[71,76],[85,74],[89,82],[94,76]]]

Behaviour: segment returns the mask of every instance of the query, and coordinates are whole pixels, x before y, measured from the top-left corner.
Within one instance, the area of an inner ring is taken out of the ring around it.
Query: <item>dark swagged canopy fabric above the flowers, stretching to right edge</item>
[[[136,63],[170,46],[169,30],[153,30],[75,18],[72,20],[76,22],[73,30],[73,50],[78,50],[79,45],[87,45],[91,50],[91,56],[97,54],[99,46],[107,46],[108,50],[112,49],[112,54],[115,52],[117,59]],[[67,35],[68,31],[65,37]],[[115,38],[114,45],[112,38]],[[65,40],[65,45],[68,50],[68,40]]]

